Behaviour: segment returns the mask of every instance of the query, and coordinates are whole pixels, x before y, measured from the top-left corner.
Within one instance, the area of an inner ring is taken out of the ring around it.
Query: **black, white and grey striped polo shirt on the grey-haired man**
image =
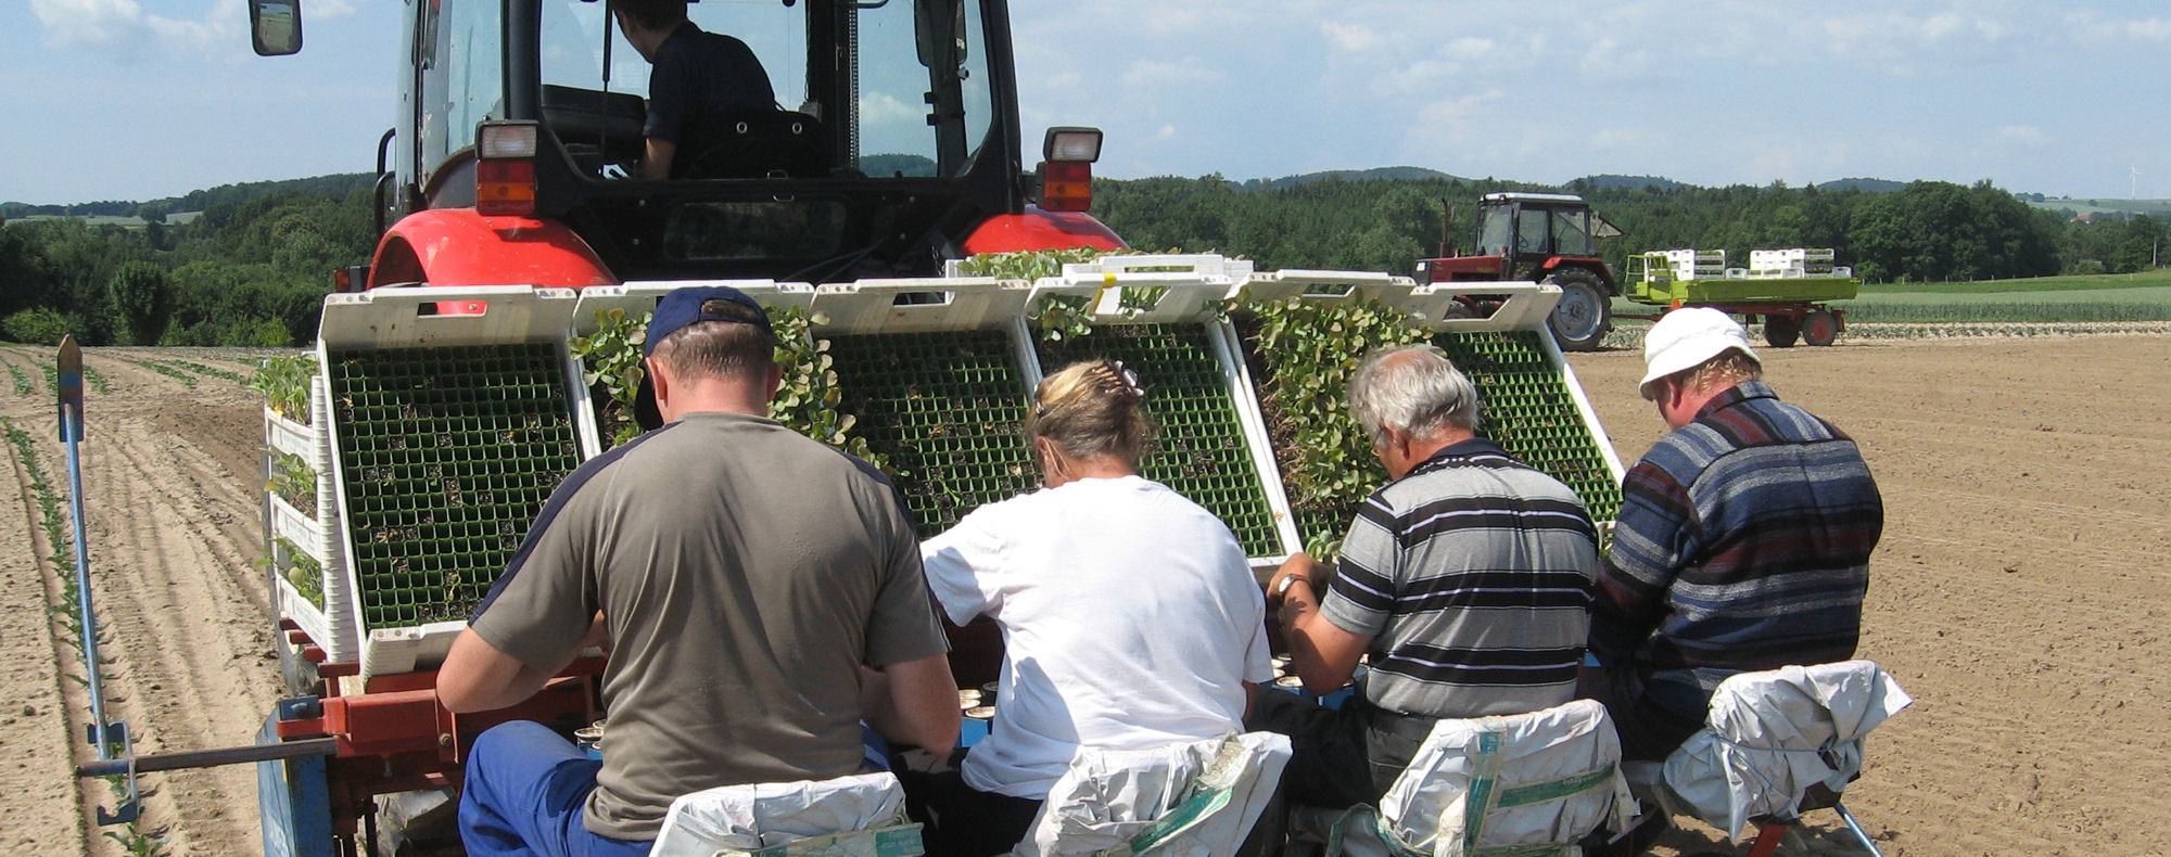
[[[1574,699],[1596,568],[1576,493],[1472,438],[1366,499],[1320,614],[1372,640],[1381,709],[1524,714]]]

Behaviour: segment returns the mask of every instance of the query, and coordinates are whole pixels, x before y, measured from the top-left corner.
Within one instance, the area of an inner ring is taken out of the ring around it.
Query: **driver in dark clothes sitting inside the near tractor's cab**
[[[745,41],[703,33],[686,0],[610,0],[625,41],[649,61],[649,117],[640,178],[671,178],[703,150],[701,126],[732,113],[775,111],[769,72]]]

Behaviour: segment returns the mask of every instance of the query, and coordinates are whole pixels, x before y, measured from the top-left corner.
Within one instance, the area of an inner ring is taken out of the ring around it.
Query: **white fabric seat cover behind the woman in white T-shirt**
[[[1287,764],[1290,738],[1268,731],[1148,751],[1079,749],[1012,855],[1224,857]]]

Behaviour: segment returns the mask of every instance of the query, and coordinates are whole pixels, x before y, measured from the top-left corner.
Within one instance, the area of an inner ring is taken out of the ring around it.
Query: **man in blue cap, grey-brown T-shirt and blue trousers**
[[[506,707],[608,640],[604,759],[536,722],[478,736],[471,855],[647,853],[680,794],[860,772],[862,720],[957,740],[912,523],[873,466],[769,419],[760,304],[673,291],[643,349],[664,425],[551,493],[436,686],[454,712]]]

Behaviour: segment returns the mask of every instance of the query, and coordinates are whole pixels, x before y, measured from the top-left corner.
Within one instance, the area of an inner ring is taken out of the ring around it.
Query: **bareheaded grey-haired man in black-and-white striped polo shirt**
[[[1598,536],[1574,490],[1478,430],[1478,393],[1437,347],[1368,356],[1350,414],[1394,477],[1357,510],[1335,566],[1294,555],[1268,581],[1290,666],[1313,694],[1370,673],[1340,709],[1261,692],[1287,733],[1294,803],[1376,803],[1439,718],[1574,699]]]

